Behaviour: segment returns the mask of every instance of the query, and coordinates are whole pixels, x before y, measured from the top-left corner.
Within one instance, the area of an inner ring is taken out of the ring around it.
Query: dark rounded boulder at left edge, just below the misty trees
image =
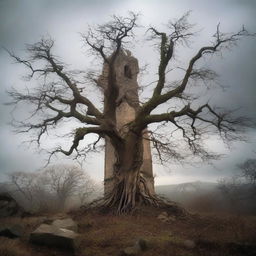
[[[18,205],[16,200],[10,194],[0,194],[0,218],[21,216],[24,212],[24,209]]]

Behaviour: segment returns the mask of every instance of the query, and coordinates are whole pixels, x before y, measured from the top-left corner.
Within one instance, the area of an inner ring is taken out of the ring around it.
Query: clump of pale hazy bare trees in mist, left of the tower
[[[88,202],[93,180],[74,165],[54,165],[38,172],[8,174],[8,190],[33,211],[64,210],[68,199]]]

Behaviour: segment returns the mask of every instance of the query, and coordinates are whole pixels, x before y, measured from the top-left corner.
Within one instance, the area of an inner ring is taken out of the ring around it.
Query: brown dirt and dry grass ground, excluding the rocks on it
[[[98,210],[79,210],[55,216],[2,218],[3,223],[19,223],[25,234],[19,239],[0,237],[1,256],[103,256],[121,251],[138,239],[147,241],[145,256],[242,256],[256,255],[256,216],[190,213],[162,222],[161,209],[143,208],[133,215],[116,216]],[[72,217],[78,223],[75,251],[32,245],[29,234],[45,219]],[[194,246],[186,246],[191,240]]]

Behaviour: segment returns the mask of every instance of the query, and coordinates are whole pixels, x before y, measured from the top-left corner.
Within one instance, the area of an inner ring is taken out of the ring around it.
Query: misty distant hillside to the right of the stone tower
[[[255,192],[246,184],[240,184],[226,193],[218,183],[187,182],[156,186],[156,193],[180,203],[196,212],[229,212],[232,214],[256,214]]]

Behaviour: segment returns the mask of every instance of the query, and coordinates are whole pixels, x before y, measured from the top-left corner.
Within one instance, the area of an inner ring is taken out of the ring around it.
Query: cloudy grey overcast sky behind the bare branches
[[[84,53],[79,32],[86,31],[87,24],[98,24],[109,20],[113,14],[127,15],[128,11],[140,13],[139,23],[144,28],[138,31],[141,38],[149,25],[161,28],[169,19],[179,18],[191,10],[191,23],[196,23],[200,35],[193,39],[190,49],[177,54],[180,63],[186,62],[189,54],[211,41],[216,25],[220,22],[226,32],[237,31],[244,24],[249,31],[256,32],[256,1],[254,0],[0,0],[0,45],[23,55],[26,43],[34,43],[42,36],[50,35],[56,41],[56,53],[72,67],[90,67]],[[144,32],[143,32],[144,31]],[[156,72],[156,52],[136,42],[132,49],[141,65],[149,63],[150,71]],[[205,65],[212,66],[220,75],[221,84],[227,86],[223,92],[212,92],[211,99],[221,106],[242,108],[243,115],[256,119],[256,41],[245,39],[232,51],[218,58],[210,58]],[[22,67],[0,49],[0,174],[15,170],[36,170],[45,163],[45,156],[32,147],[21,145],[28,137],[15,135],[7,124],[11,120],[10,109],[3,106],[8,101],[6,90],[22,88]],[[153,79],[148,76],[145,81]],[[142,80],[143,81],[143,80]],[[248,134],[250,143],[236,143],[231,151],[212,139],[210,147],[226,154],[215,166],[171,166],[166,170],[154,166],[157,184],[180,183],[194,180],[216,181],[235,172],[235,165],[250,157],[256,157],[256,132]],[[97,180],[103,179],[103,154],[93,155],[84,164],[88,173]],[[1,176],[0,176],[1,177]],[[3,177],[3,176],[2,176]]]

